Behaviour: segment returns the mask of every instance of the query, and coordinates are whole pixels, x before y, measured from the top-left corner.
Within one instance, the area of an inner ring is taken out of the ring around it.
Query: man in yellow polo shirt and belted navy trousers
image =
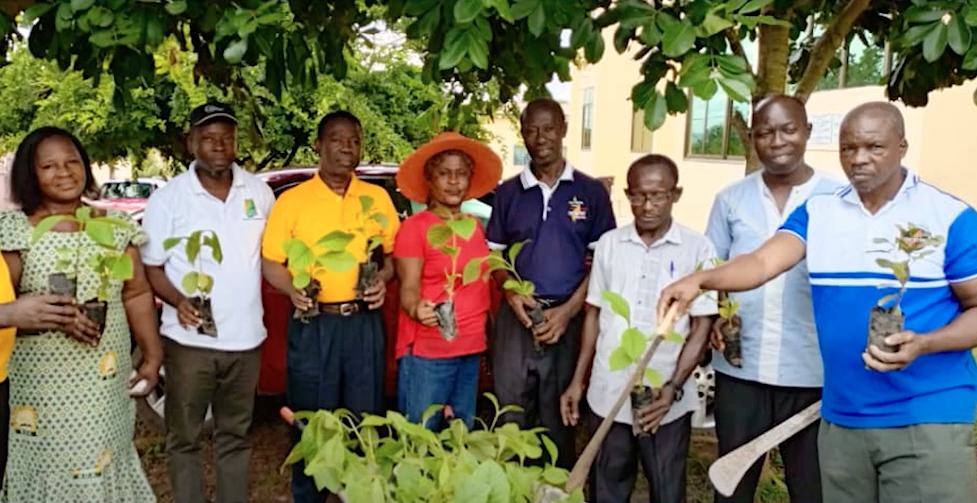
[[[289,319],[288,402],[293,410],[342,407],[377,414],[383,408],[384,334],[378,308],[393,277],[390,253],[399,220],[385,189],[356,178],[362,137],[360,121],[349,112],[323,117],[315,140],[319,172],[282,194],[265,224],[265,279],[288,295],[295,309],[305,311],[316,302],[321,311],[307,323]],[[364,197],[371,200],[367,215]],[[382,216],[366,218],[377,213]],[[313,274],[321,290],[317,299],[310,299],[292,285],[292,274],[298,271],[290,272],[285,265],[285,243],[297,238],[319,255],[325,250],[315,247],[316,242],[334,231],[354,236],[346,250],[359,262],[379,263],[377,280],[360,295],[359,268],[336,272],[318,267]],[[368,257],[371,237],[382,241],[382,248]],[[301,462],[292,466],[294,501],[321,501],[303,470]]]

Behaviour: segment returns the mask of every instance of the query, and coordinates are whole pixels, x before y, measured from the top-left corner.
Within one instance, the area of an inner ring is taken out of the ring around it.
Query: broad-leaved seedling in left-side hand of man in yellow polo
[[[346,272],[358,262],[346,248],[355,236],[348,232],[333,231],[326,234],[313,246],[306,245],[298,238],[285,242],[285,255],[288,257],[288,269],[292,273],[292,286],[302,290],[306,297],[312,300],[312,307],[307,310],[296,309],[293,318],[308,323],[310,319],[319,315],[319,292],[322,285],[315,277],[322,270]],[[322,249],[321,253],[316,253]]]

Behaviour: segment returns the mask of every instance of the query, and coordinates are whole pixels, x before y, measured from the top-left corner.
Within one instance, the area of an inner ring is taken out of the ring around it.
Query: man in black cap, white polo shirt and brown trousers
[[[207,408],[214,413],[217,501],[248,499],[248,464],[260,346],[265,339],[261,305],[261,234],[274,203],[267,184],[234,162],[237,121],[219,103],[190,113],[190,168],[156,191],[146,206],[142,247],[146,275],[165,301],[166,453],[173,497],[205,501],[200,430]],[[168,238],[213,231],[221,244],[218,263],[202,248],[198,264],[184,243],[167,250]],[[200,312],[182,287],[184,275],[213,277],[210,293],[216,336],[198,330]]]

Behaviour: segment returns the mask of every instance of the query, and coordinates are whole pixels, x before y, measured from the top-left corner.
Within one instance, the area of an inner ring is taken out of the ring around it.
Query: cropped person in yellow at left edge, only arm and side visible
[[[10,381],[7,362],[14,350],[17,329],[64,330],[75,322],[78,309],[73,297],[31,295],[16,298],[7,262],[0,260],[0,478],[7,469],[7,440],[10,434]]]

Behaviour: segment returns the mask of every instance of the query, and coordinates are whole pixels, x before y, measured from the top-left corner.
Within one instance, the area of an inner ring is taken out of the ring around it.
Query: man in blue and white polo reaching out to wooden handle
[[[977,406],[977,212],[902,166],[902,115],[885,102],[845,116],[839,157],[851,183],[799,206],[757,251],[667,287],[659,309],[700,288],[756,288],[806,257],[824,365],[818,438],[824,501],[973,502]],[[869,312],[898,291],[878,258],[912,224],[945,238],[910,263],[904,331],[866,350]]]

